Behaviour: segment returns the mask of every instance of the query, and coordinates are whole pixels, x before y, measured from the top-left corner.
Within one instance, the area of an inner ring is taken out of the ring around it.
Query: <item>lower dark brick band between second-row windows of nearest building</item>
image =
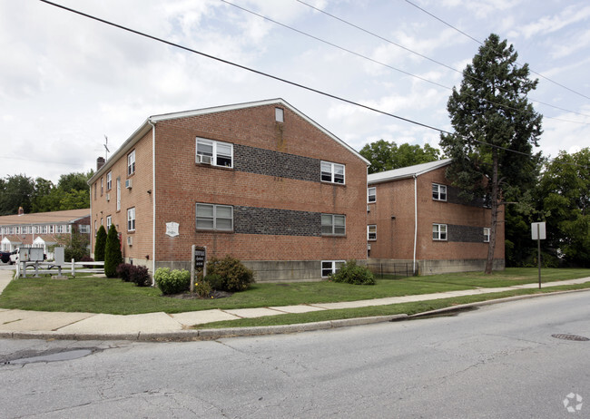
[[[321,213],[233,207],[233,230],[241,234],[321,236]]]

